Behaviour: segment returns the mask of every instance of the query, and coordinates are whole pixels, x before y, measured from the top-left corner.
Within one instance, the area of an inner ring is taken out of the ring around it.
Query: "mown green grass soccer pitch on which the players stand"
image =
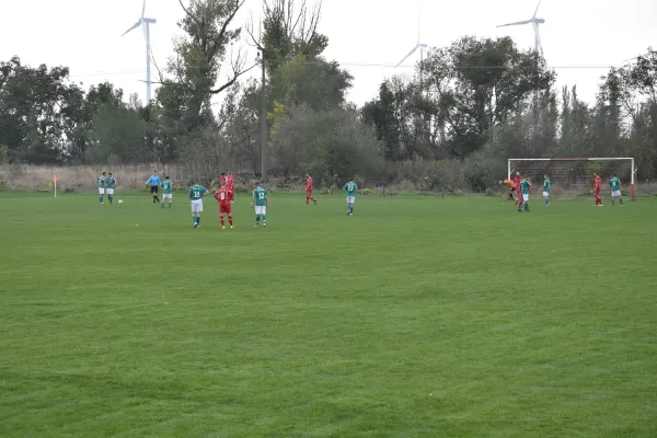
[[[655,437],[657,199],[0,196],[0,435]]]

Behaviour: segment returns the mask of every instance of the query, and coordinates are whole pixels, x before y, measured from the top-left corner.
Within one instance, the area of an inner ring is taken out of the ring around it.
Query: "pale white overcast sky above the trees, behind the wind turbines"
[[[308,0],[312,2],[312,0]],[[184,0],[185,3],[188,0]],[[534,0],[324,0],[320,32],[328,36],[325,56],[355,77],[348,99],[359,105],[377,94],[381,81],[412,74],[419,55],[396,65],[417,42],[422,8],[422,42],[449,45],[462,35],[509,35],[522,48],[533,47],[531,25],[496,28],[530,19]],[[262,0],[246,0],[235,25],[261,15]],[[141,13],[141,0],[0,0],[0,60],[19,55],[36,67],[64,65],[85,88],[110,81],[125,91],[146,95],[146,49],[139,28],[120,35]],[[147,0],[151,44],[162,67],[181,32],[178,0]],[[591,101],[600,76],[610,66],[657,47],[657,0],[543,0],[541,38],[548,65],[558,84],[577,84]],[[245,42],[244,42],[245,43]],[[256,51],[244,44],[249,58]],[[254,72],[257,74],[257,72]],[[227,78],[228,72],[221,76]],[[153,77],[154,79],[154,77]]]

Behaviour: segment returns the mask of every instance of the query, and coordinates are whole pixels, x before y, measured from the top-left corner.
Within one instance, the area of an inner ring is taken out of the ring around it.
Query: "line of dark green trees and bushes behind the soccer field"
[[[126,99],[110,82],[84,90],[67,67],[35,68],[18,56],[0,62],[0,162],[184,163],[194,177],[229,168],[257,175],[263,83],[243,74],[261,66],[231,50],[245,37],[264,54],[267,176],[482,191],[510,157],[619,155],[636,158],[639,178],[657,175],[652,49],[610,68],[587,103],[576,87],[557,90],[544,59],[510,38],[466,36],[429,50],[412,78],[384,80],[357,107],[346,100],[353,77],[323,55],[321,3],[266,0],[262,23],[240,27],[243,4],[181,2],[184,36],[158,69],[152,102]]]

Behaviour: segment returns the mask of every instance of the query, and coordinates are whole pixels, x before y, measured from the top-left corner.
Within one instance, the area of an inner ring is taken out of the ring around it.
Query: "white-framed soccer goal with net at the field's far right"
[[[609,191],[609,178],[612,175],[621,178],[623,192],[630,187],[632,200],[636,200],[635,174],[633,158],[537,158],[509,159],[508,178],[516,172],[529,176],[534,187],[542,184],[543,175],[550,176],[552,193],[557,196],[586,195],[592,191],[595,174],[602,178],[602,193]]]

